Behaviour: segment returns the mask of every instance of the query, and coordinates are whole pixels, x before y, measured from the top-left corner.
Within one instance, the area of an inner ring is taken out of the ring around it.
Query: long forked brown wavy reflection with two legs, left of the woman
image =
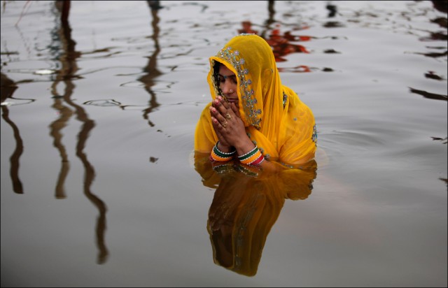
[[[97,225],[95,231],[97,234],[97,247],[99,249],[97,256],[97,263],[103,264],[109,252],[105,245],[104,233],[106,231],[106,204],[95,196],[90,186],[95,177],[95,172],[92,164],[87,159],[87,154],[84,152],[85,143],[89,137],[90,132],[94,128],[94,121],[91,120],[83,107],[74,103],[71,100],[71,95],[75,88],[73,79],[78,78],[76,72],[78,71],[78,65],[76,64],[76,59],[80,57],[80,52],[75,50],[76,42],[71,38],[71,27],[69,25],[69,2],[70,1],[56,1],[55,6],[57,8],[57,24],[56,28],[52,31],[52,38],[55,40],[50,50],[53,55],[56,56],[58,63],[61,67],[57,69],[57,73],[54,81],[52,82],[52,95],[54,103],[52,105],[59,113],[59,118],[50,124],[50,135],[54,139],[53,145],[59,151],[62,160],[61,171],[59,172],[59,178],[57,180],[55,196],[58,199],[65,198],[64,192],[64,181],[66,175],[69,172],[69,159],[66,154],[65,147],[62,143],[62,129],[66,127],[68,120],[71,118],[73,113],[76,115],[76,120],[83,123],[79,134],[78,143],[76,144],[76,156],[83,163],[85,169],[85,176],[83,182],[83,192],[87,199],[89,199],[93,205],[98,209],[99,216],[97,218]],[[59,26],[60,24],[60,26]],[[57,85],[64,84],[64,94],[59,95],[57,93]],[[67,106],[65,105],[67,104]],[[71,108],[73,108],[73,110]]]

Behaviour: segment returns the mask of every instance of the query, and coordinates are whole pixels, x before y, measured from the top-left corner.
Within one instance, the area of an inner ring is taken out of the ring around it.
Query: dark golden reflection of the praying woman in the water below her
[[[195,169],[204,186],[216,188],[207,221],[214,263],[253,276],[285,199],[308,198],[317,164],[262,173],[233,162],[212,167],[208,155],[195,154]]]

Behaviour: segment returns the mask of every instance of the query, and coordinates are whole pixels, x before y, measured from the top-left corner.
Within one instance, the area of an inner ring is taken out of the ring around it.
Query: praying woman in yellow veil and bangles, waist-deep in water
[[[314,159],[314,116],[281,84],[274,54],[263,38],[235,36],[209,60],[213,101],[197,123],[195,152],[209,154],[218,164],[235,159],[261,168],[274,168],[274,162],[300,166]]]

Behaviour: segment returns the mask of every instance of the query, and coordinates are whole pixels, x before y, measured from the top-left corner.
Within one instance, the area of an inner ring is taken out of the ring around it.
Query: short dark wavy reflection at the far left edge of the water
[[[18,87],[13,80],[1,73],[1,117],[3,117],[5,122],[8,123],[13,129],[15,139],[15,150],[9,159],[11,164],[9,175],[13,181],[14,192],[17,194],[23,194],[23,185],[19,178],[19,159],[23,153],[23,141],[17,125],[9,118],[8,105],[6,105],[6,99],[14,99],[13,94],[17,88]]]

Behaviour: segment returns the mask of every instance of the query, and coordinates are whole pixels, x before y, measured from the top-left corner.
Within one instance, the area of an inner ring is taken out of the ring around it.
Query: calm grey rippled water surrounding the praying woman
[[[446,12],[161,2],[71,1],[65,29],[54,1],[2,2],[2,287],[447,286]],[[252,277],[214,264],[192,154],[208,57],[244,21],[293,36],[277,64],[319,144]]]

